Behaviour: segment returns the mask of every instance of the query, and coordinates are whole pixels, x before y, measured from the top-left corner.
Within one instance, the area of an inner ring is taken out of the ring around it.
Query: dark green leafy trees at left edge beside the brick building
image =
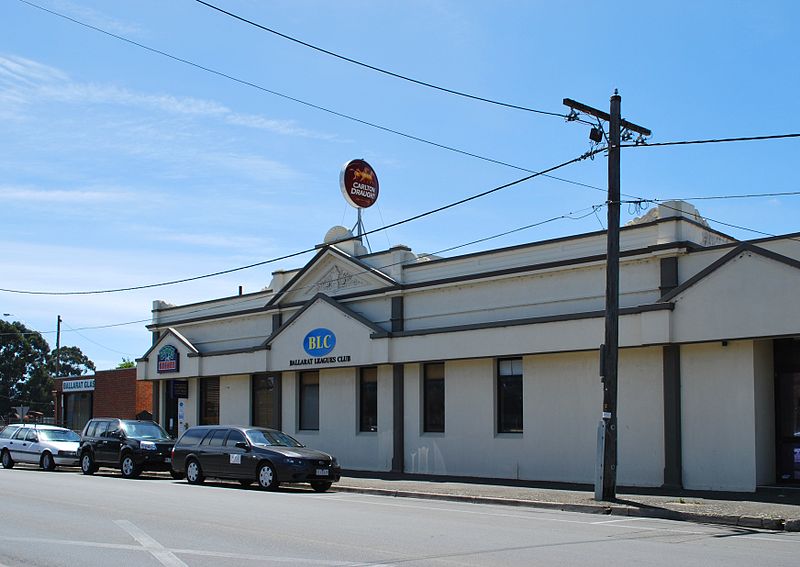
[[[78,347],[50,345],[37,331],[19,321],[0,320],[0,415],[17,405],[53,415],[53,376],[58,356],[59,376],[80,376],[94,371],[94,362]]]

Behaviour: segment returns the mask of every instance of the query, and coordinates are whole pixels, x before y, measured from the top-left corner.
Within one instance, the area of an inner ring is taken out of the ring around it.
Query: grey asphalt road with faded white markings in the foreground
[[[0,565],[791,565],[800,534],[0,469]]]

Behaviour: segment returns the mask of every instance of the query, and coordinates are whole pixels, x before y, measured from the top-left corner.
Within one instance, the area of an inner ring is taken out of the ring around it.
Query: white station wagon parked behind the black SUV
[[[77,433],[54,425],[9,425],[0,431],[0,461],[10,469],[15,463],[34,463],[45,470],[58,465],[77,466]]]

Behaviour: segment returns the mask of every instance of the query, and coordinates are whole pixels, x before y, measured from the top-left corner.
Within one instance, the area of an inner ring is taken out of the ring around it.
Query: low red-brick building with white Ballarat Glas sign
[[[55,396],[56,423],[76,431],[93,417],[136,419],[153,411],[153,384],[138,381],[135,368],[56,378]]]

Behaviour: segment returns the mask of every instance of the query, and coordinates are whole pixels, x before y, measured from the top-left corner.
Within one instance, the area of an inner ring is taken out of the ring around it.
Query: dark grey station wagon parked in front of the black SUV
[[[336,457],[282,431],[240,425],[189,428],[175,443],[172,468],[191,484],[220,478],[275,490],[281,482],[309,482],[317,492],[328,490],[342,474]]]

